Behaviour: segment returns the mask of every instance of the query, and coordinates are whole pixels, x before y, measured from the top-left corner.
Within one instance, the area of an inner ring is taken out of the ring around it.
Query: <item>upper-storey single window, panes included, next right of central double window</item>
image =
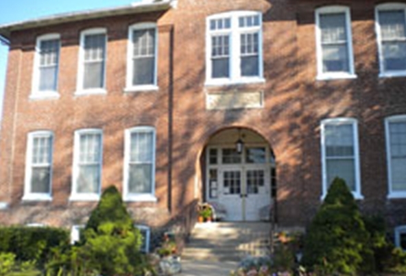
[[[355,78],[350,8],[315,10],[317,79]]]

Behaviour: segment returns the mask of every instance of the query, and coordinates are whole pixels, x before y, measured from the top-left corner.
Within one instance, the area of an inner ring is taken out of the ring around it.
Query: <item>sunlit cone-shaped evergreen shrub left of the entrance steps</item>
[[[142,273],[142,236],[134,227],[115,186],[107,188],[84,229],[82,258],[101,275]]]

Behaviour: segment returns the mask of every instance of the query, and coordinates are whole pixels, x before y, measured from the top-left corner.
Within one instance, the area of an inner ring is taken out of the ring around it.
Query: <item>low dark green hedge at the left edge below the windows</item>
[[[69,232],[52,227],[0,227],[0,253],[13,253],[18,262],[47,262],[53,247],[69,244]]]

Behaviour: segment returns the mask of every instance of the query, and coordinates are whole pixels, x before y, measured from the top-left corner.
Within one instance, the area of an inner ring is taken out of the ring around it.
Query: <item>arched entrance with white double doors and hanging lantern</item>
[[[222,206],[226,221],[270,219],[276,164],[261,135],[246,128],[224,129],[208,140],[205,155],[204,199]]]

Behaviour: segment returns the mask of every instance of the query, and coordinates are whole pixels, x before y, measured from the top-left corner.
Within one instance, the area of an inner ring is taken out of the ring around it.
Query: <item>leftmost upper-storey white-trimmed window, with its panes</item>
[[[60,35],[46,34],[36,39],[31,98],[58,97]]]

